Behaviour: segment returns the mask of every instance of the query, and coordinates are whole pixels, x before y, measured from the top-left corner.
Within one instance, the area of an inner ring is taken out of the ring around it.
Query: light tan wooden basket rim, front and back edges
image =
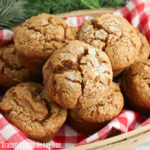
[[[71,16],[99,16],[104,13],[113,13],[116,9],[113,8],[101,8],[94,10],[79,10],[69,13],[58,14],[60,18]],[[150,141],[150,125],[138,128],[134,131],[117,135],[102,141],[69,148],[68,150],[127,150],[134,146],[143,144]]]

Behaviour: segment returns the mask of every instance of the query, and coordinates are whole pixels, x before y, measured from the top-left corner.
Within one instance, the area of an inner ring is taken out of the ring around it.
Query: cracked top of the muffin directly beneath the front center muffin
[[[112,82],[107,95],[100,98],[98,104],[85,109],[72,109],[69,115],[75,120],[93,123],[110,121],[121,112],[124,98],[118,84]]]

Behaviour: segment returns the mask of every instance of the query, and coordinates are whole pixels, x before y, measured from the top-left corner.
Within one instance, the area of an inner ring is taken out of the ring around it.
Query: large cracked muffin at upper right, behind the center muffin
[[[114,77],[135,61],[141,46],[136,30],[127,20],[113,14],[85,21],[79,29],[78,40],[106,52]]]

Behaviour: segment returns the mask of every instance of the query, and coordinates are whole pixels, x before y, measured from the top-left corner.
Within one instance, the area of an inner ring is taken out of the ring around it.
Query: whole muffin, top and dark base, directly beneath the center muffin
[[[124,98],[119,85],[112,82],[107,95],[100,98],[98,104],[85,109],[70,110],[68,121],[77,131],[91,134],[119,115],[123,106]]]

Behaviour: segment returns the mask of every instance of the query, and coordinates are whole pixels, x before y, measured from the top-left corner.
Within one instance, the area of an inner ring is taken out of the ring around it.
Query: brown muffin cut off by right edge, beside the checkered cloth
[[[150,60],[134,63],[124,71],[122,90],[129,106],[150,114]]]

